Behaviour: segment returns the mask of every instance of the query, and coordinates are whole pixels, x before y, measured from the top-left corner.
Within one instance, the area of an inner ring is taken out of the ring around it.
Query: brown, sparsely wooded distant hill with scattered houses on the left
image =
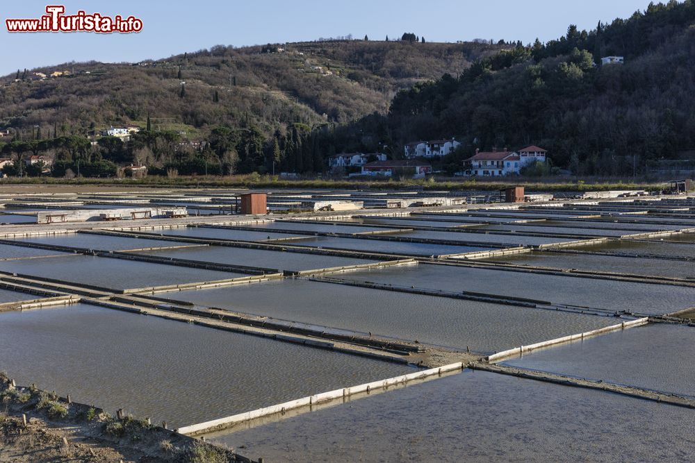
[[[345,124],[386,112],[398,90],[458,75],[498,47],[341,40],[215,46],[135,64],[67,63],[2,78],[0,127],[79,135],[140,124],[206,135],[219,125],[271,135],[290,124]],[[41,80],[68,71],[70,76]],[[185,83],[185,84],[184,84]],[[183,87],[183,92],[182,92]],[[26,134],[25,134],[26,135]]]

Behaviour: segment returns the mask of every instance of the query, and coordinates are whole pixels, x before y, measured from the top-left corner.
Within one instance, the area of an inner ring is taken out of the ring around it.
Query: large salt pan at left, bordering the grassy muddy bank
[[[414,371],[89,305],[0,314],[0,370],[172,426]]]

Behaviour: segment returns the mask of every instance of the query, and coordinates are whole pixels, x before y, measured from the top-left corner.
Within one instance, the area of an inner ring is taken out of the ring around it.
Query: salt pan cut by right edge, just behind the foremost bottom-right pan
[[[655,324],[537,351],[505,364],[695,398],[695,328]]]

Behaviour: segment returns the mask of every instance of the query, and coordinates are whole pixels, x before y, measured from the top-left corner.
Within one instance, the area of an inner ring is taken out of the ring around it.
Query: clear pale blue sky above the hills
[[[60,4],[49,1],[49,4]],[[430,42],[474,38],[541,41],[564,35],[569,24],[591,29],[644,10],[648,0],[265,0],[186,2],[161,0],[70,1],[66,13],[83,9],[102,15],[134,15],[138,34],[15,33],[5,19],[34,18],[46,1],[3,2],[0,9],[0,75],[71,60],[103,62],[163,58],[215,44],[297,42],[352,34],[370,40],[409,31]]]

